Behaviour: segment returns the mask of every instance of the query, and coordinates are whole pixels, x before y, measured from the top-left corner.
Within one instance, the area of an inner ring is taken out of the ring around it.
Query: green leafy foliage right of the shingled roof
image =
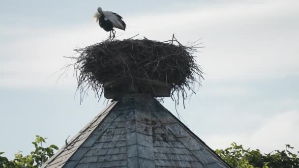
[[[233,142],[231,147],[216,149],[215,152],[233,168],[299,168],[299,155],[288,149],[294,147],[286,144],[285,150],[261,154],[259,149],[244,149]]]

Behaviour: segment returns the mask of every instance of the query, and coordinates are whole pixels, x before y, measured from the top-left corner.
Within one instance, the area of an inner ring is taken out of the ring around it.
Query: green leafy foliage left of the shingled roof
[[[46,143],[46,138],[35,136],[35,141],[32,144],[35,150],[30,152],[30,155],[23,156],[19,151],[15,154],[15,158],[9,161],[6,157],[0,156],[0,168],[39,168],[47,160],[54,155],[54,150],[58,150],[56,145],[50,145],[49,147],[43,147],[43,143]],[[0,152],[0,155],[4,152]]]

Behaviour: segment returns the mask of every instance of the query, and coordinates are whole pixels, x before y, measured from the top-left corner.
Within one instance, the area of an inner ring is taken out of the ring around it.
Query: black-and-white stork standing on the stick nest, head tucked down
[[[101,7],[97,8],[97,12],[94,14],[94,18],[96,22],[99,22],[101,28],[106,31],[110,31],[113,33],[113,38],[115,37],[115,30],[113,28],[119,28],[125,30],[125,23],[122,20],[122,17],[114,12],[103,11]]]

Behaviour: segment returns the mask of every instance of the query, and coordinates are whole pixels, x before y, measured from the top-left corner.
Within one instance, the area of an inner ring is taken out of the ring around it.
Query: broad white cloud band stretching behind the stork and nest
[[[127,16],[128,28],[125,32],[119,30],[118,34],[126,38],[140,33],[140,37],[165,40],[176,32],[183,43],[204,37],[202,41],[207,49],[198,55],[198,61],[208,80],[294,76],[299,75],[296,46],[299,3],[291,2],[294,4],[235,1],[194,5],[185,11],[166,14]],[[62,56],[71,56],[74,48],[96,43],[107,35],[95,23],[47,29],[46,34],[36,28],[25,30],[22,32],[36,34],[1,45],[4,54],[0,58],[0,71],[2,75],[6,73],[5,78],[1,77],[1,86],[53,85],[57,76],[46,83],[44,79],[65,65],[68,60]],[[28,83],[17,83],[20,77],[29,79]]]

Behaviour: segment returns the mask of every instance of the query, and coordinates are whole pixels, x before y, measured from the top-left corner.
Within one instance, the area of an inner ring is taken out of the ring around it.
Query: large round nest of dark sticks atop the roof
[[[200,43],[201,44],[201,43]],[[198,44],[183,46],[173,36],[160,42],[143,39],[107,39],[82,49],[73,64],[81,101],[88,90],[102,97],[105,82],[124,81],[139,85],[139,92],[147,93],[150,81],[159,81],[171,87],[171,98],[179,104],[195,93],[195,84],[201,85],[203,72],[193,56]],[[189,91],[191,92],[189,92]]]

